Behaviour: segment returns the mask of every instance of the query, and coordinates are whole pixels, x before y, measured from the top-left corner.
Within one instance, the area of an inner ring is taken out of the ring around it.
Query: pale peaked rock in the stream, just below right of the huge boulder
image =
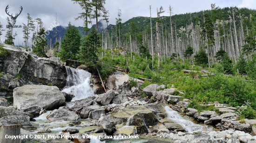
[[[77,120],[79,116],[74,111],[68,111],[66,107],[60,107],[58,110],[52,111],[46,118],[50,121],[72,121]]]

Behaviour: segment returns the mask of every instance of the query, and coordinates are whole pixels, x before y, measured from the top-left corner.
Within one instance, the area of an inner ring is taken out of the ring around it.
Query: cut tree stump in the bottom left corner
[[[6,138],[8,136],[19,136],[20,135],[20,125],[12,124],[12,125],[2,125],[0,126],[0,143],[20,143],[20,138],[11,139]]]

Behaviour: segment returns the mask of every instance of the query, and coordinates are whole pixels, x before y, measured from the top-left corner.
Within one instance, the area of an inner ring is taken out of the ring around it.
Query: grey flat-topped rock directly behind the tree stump
[[[20,124],[20,126],[31,126],[29,116],[23,115],[9,115],[0,118],[0,124],[2,125],[11,125],[11,124]]]

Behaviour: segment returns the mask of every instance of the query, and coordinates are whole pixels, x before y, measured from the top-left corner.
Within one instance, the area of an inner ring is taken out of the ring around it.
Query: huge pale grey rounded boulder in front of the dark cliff
[[[13,106],[20,111],[36,114],[41,108],[53,110],[64,103],[64,94],[56,86],[25,85],[13,90]]]

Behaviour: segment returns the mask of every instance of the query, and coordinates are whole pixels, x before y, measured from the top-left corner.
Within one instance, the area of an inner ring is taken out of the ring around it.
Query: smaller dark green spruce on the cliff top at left
[[[42,38],[42,36],[45,34],[46,29],[41,27],[39,32],[37,33],[37,40],[35,42],[33,53],[35,53],[38,56],[46,57],[45,55],[45,49],[47,48],[47,39]]]

